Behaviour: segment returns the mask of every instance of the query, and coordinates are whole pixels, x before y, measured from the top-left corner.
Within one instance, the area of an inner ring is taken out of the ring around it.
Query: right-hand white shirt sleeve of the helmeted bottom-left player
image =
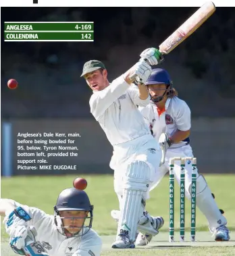
[[[72,256],[100,256],[102,249],[102,240],[97,234],[87,236],[82,240],[78,250]]]

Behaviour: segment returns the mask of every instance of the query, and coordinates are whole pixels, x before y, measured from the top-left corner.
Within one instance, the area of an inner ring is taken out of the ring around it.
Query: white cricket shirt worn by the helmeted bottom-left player
[[[50,256],[100,256],[102,241],[100,236],[93,229],[90,229],[84,236],[67,238],[59,234],[54,222],[54,216],[46,214],[41,209],[21,205],[10,200],[16,207],[21,206],[32,217],[26,222],[27,226],[34,226],[37,232],[36,241],[41,242]]]

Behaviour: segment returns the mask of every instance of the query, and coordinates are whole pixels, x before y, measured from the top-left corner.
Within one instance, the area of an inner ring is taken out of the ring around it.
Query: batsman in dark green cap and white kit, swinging
[[[161,61],[161,53],[150,48],[140,57],[130,70],[111,83],[101,61],[86,62],[81,75],[93,90],[90,112],[113,146],[110,167],[114,170],[114,189],[120,201],[117,236],[112,245],[115,249],[134,248],[137,225],[142,232],[153,236],[163,225],[161,217],[151,217],[145,211],[161,161],[161,149],[137,107],[145,107],[150,102],[145,82],[151,66],[144,59],[156,65]],[[133,75],[138,76],[138,86],[133,84]]]

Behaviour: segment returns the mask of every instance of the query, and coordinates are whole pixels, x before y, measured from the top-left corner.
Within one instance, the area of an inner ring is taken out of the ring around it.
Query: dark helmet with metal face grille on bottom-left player
[[[59,211],[88,211],[88,215],[84,217],[84,222],[76,234],[72,236],[83,236],[90,230],[93,223],[93,205],[90,205],[90,199],[84,190],[78,190],[76,188],[66,188],[63,190],[57,199],[57,203],[54,207],[54,220],[55,225],[59,233],[67,236],[68,232],[65,232],[66,226],[63,225],[63,219],[68,217],[61,217]],[[69,217],[69,219],[77,219],[79,217]],[[89,220],[88,225],[85,224],[86,220]]]

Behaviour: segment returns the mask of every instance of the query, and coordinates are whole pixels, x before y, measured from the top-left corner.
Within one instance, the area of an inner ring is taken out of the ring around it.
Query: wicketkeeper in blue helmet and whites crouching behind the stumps
[[[153,136],[163,148],[163,158],[160,167],[160,175],[154,186],[169,171],[169,158],[193,157],[190,147],[190,109],[185,101],[178,98],[178,93],[172,87],[172,81],[166,70],[156,68],[145,83],[149,88],[151,103],[147,107],[140,107]],[[164,163],[165,157],[165,163]],[[192,163],[186,162],[185,189],[186,197],[190,199],[190,185],[192,175]],[[180,161],[175,162],[176,180],[180,184]],[[215,233],[215,240],[227,241],[230,239],[229,230],[226,227],[227,220],[218,209],[211,190],[202,174],[197,174],[197,207],[205,215],[209,222],[209,230]],[[138,235],[137,245],[147,245],[152,236],[148,234]]]

